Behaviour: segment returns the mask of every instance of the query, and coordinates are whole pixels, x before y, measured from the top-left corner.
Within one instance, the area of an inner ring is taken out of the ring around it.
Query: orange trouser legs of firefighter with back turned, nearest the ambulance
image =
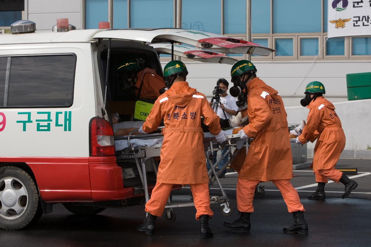
[[[210,218],[214,215],[210,209],[210,195],[207,183],[203,184],[190,184],[191,192],[193,195],[194,207],[196,207],[196,220],[201,215],[207,214]],[[152,190],[151,199],[145,204],[145,211],[161,217],[164,213],[167,198],[170,195],[173,184],[156,183]]]

